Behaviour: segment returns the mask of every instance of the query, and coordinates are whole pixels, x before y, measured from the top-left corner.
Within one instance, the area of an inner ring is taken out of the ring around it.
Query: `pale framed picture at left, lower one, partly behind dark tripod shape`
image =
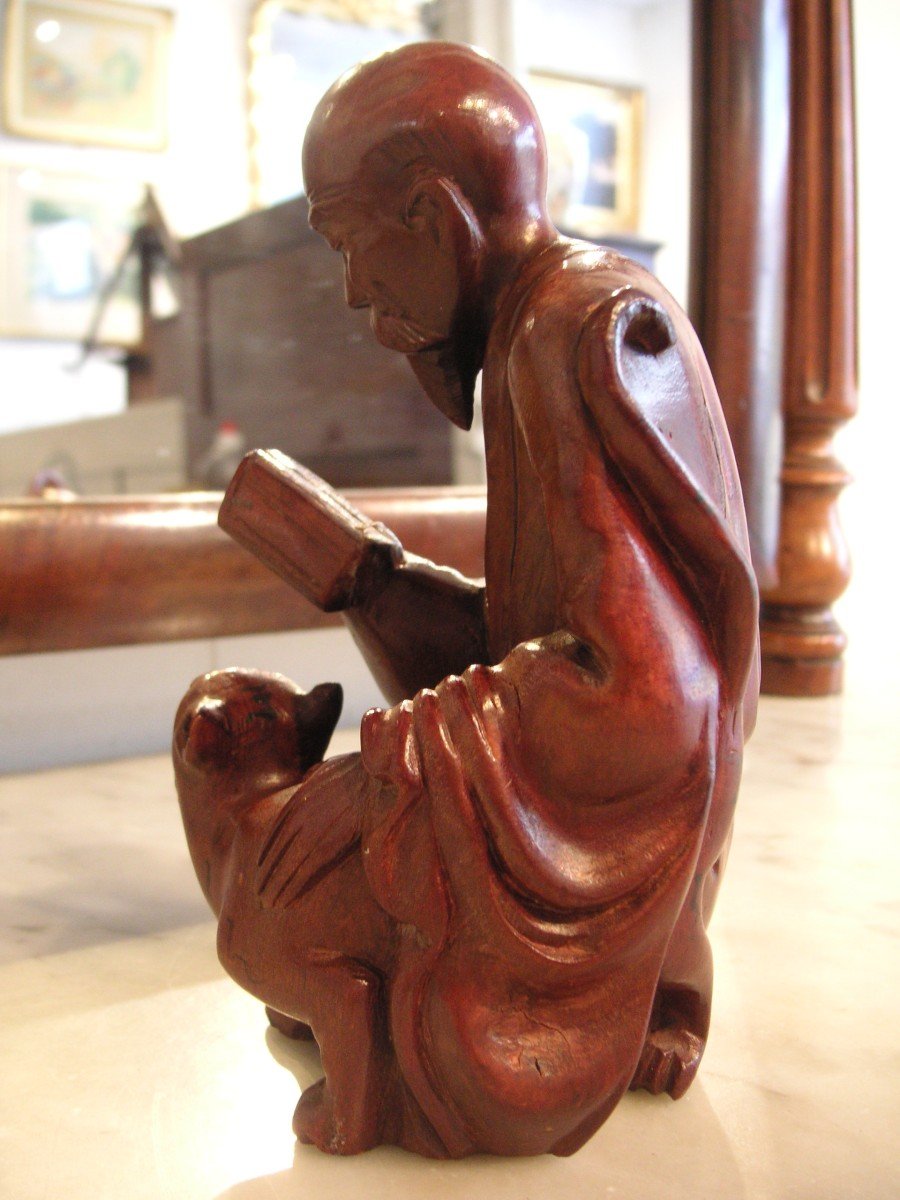
[[[0,335],[82,341],[140,221],[140,184],[0,166]],[[104,308],[96,341],[140,332],[137,256]]]

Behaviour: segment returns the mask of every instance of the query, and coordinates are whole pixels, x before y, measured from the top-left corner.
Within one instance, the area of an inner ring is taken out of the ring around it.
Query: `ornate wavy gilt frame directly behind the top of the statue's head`
[[[312,112],[349,67],[422,41],[420,0],[259,0],[250,36],[250,170],[254,206],[304,190]]]

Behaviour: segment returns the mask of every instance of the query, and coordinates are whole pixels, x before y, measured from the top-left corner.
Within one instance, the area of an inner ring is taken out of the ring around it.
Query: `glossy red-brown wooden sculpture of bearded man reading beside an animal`
[[[695,335],[642,268],[560,238],[518,85],[406,47],[344,76],[304,149],[347,300],[451,420],[484,370],[486,580],[404,553],[272,452],[221,521],[344,612],[392,707],[215,672],[176,719],[218,950],[325,1078],[332,1153],[568,1154],[623,1092],[678,1097],[757,695],[756,587]]]

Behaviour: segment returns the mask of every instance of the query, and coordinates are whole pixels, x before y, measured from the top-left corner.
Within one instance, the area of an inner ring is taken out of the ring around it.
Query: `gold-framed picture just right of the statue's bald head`
[[[553,222],[588,238],[635,233],[643,92],[546,71],[526,86],[547,138]]]

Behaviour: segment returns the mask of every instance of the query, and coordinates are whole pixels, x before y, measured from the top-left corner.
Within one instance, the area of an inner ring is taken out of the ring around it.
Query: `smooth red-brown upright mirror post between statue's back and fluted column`
[[[728,422],[761,587],[775,578],[790,0],[695,0],[688,311]]]

